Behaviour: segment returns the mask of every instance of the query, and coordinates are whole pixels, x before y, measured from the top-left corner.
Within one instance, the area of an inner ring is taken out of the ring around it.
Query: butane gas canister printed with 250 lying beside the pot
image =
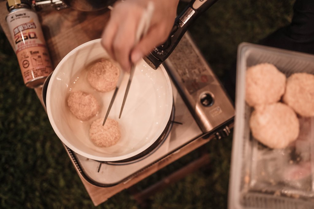
[[[24,83],[35,88],[42,85],[52,71],[38,15],[27,0],[8,0],[7,7],[10,13],[6,21]]]

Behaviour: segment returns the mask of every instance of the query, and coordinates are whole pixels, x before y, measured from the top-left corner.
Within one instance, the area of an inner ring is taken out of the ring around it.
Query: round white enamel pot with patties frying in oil
[[[89,126],[95,119],[104,118],[113,91],[101,93],[82,86],[81,91],[96,94],[101,103],[98,114],[86,122],[80,122],[78,119],[75,121],[74,116],[68,116],[67,98],[70,93],[69,86],[75,81],[78,72],[89,63],[108,57],[100,39],[82,44],[68,53],[51,75],[46,107],[55,133],[74,152],[89,159],[119,161],[132,158],[154,144],[169,121],[173,99],[170,79],[165,68],[160,65],[154,70],[144,60],[139,61],[122,117],[118,118],[129,77],[127,73],[109,114],[109,118],[119,123],[121,139],[111,147],[96,146],[89,138]]]

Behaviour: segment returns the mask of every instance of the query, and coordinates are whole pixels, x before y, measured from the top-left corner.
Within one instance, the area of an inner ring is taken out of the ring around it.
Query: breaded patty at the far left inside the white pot
[[[93,95],[83,91],[70,93],[68,97],[68,106],[73,115],[82,121],[92,118],[99,110],[97,99]]]

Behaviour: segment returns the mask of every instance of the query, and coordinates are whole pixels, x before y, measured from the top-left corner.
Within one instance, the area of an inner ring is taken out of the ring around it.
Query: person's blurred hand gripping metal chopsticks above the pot
[[[154,3],[154,12],[147,34],[135,44],[138,23],[148,2]],[[127,0],[117,2],[101,36],[101,44],[112,59],[125,71],[131,64],[147,55],[155,46],[166,41],[176,18],[179,0]],[[135,45],[134,45],[135,44]]]

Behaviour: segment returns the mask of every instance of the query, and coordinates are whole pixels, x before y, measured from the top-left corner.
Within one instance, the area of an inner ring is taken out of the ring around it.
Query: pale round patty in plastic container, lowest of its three
[[[291,107],[277,102],[260,105],[250,118],[252,135],[270,148],[287,147],[299,135],[299,120]]]

